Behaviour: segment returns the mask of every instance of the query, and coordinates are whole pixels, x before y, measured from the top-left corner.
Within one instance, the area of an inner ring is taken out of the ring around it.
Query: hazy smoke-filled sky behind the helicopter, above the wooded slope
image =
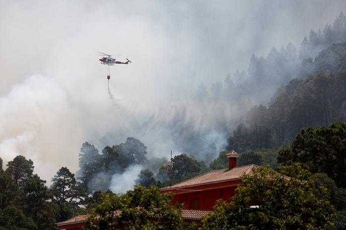
[[[266,57],[289,41],[299,47],[342,10],[344,0],[0,0],[0,157],[4,165],[31,158],[49,181],[62,166],[77,170],[84,141],[133,136],[149,155],[179,151],[161,133],[138,137],[136,129],[201,83],[246,71],[252,53]],[[117,105],[98,51],[132,61],[111,67]]]

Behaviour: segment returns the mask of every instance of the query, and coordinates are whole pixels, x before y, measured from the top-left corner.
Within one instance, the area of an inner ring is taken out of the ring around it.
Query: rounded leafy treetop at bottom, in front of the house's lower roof
[[[182,229],[181,210],[171,205],[170,198],[170,194],[153,186],[135,186],[121,196],[107,194],[94,209],[87,229],[112,229],[110,223],[116,210],[121,213],[114,219],[115,224],[126,229]]]

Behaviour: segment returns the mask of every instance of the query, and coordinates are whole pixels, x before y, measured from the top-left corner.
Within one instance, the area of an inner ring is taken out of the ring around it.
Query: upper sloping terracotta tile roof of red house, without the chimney
[[[252,169],[258,168],[258,167],[259,166],[257,165],[251,164],[251,165],[234,167],[231,170],[229,169],[214,170],[214,171],[210,171],[205,174],[193,177],[186,181],[174,184],[172,186],[166,186],[166,187],[160,188],[160,191],[171,191],[176,189],[194,187],[197,185],[206,185],[206,184],[214,184],[214,183],[220,183],[225,181],[237,180],[245,173],[252,174]]]

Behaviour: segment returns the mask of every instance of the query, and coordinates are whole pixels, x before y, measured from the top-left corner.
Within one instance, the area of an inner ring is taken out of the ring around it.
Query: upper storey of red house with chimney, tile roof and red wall
[[[182,203],[187,209],[212,210],[218,199],[229,200],[234,190],[241,183],[239,178],[248,173],[256,165],[236,166],[238,154],[227,153],[229,164],[227,169],[207,172],[186,181],[160,188],[161,192],[173,192],[174,204]]]

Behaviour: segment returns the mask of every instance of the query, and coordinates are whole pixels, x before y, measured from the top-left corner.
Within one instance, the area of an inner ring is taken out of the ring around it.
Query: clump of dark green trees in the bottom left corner
[[[5,227],[0,229],[53,229],[56,221],[55,206],[49,201],[52,194],[46,181],[32,175],[33,162],[17,156],[9,165],[6,172],[0,171],[0,222],[8,222],[0,223]]]

